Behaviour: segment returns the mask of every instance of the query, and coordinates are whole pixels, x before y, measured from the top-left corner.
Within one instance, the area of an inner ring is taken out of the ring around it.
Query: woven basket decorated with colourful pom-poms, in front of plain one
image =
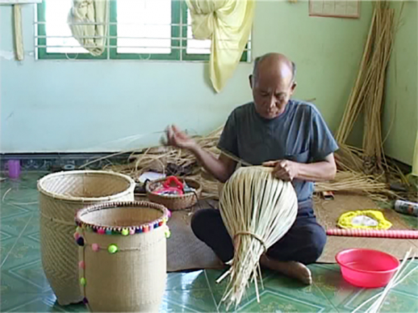
[[[79,285],[92,312],[158,312],[167,278],[169,211],[146,201],[77,213]]]

